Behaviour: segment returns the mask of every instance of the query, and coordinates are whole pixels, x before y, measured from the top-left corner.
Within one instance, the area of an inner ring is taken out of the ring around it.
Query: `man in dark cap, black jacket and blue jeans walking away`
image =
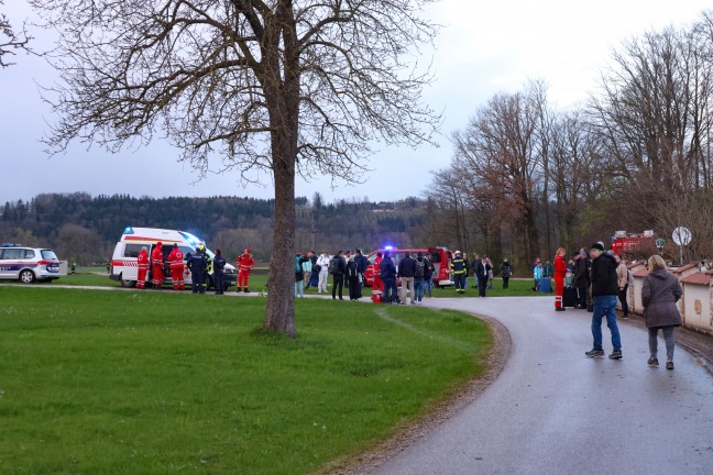
[[[602,345],[602,319],[606,318],[606,325],[612,332],[614,351],[612,360],[622,360],[622,339],[616,325],[616,296],[618,295],[618,279],[616,276],[616,261],[604,253],[604,245],[600,242],[590,250],[592,264],[592,297],[594,299],[594,313],[592,314],[592,336],[594,346],[584,353],[589,357],[604,356]]]

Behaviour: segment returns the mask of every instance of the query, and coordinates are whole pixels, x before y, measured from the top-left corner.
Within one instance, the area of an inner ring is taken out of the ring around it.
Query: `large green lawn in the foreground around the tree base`
[[[487,327],[426,308],[0,287],[0,473],[303,474],[483,369]]]

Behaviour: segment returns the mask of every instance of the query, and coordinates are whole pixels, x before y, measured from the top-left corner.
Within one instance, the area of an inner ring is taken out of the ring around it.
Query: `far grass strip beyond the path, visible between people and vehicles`
[[[105,267],[78,267],[77,274],[68,275],[56,280],[61,285],[72,285],[72,286],[99,286],[99,287],[119,287],[119,283],[110,280],[108,274],[106,273]],[[475,279],[473,277],[469,278],[469,285],[472,287]],[[250,277],[250,287],[253,291],[261,291],[265,288],[267,283],[266,272],[255,273]],[[52,285],[52,284],[50,284]],[[511,279],[509,289],[503,290],[503,280],[496,278],[493,283],[493,288],[487,290],[489,297],[533,297],[533,296],[551,296],[551,294],[539,294],[530,290],[533,287],[531,279]],[[231,287],[231,290],[234,290],[234,287]],[[331,291],[331,278],[330,278],[330,291]],[[308,295],[316,295],[317,289],[315,287],[306,290]],[[349,295],[349,290],[344,289],[344,294]],[[363,292],[364,297],[371,296],[371,288],[364,287]],[[469,288],[465,294],[459,295],[456,292],[453,287],[448,288],[438,288],[434,289],[434,297],[476,297],[478,289]]]

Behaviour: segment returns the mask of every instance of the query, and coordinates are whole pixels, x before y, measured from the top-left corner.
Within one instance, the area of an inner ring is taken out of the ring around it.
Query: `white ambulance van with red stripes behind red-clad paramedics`
[[[186,231],[164,230],[155,228],[127,228],[121,235],[121,239],[114,247],[111,257],[111,268],[109,270],[109,278],[121,283],[123,287],[135,287],[136,278],[139,275],[139,253],[143,246],[146,246],[149,256],[153,252],[155,245],[161,241],[164,261],[168,258],[168,254],[173,250],[174,244],[178,244],[178,248],[184,255],[184,259],[188,254],[195,254],[196,247],[206,245],[206,243],[196,235]],[[206,254],[210,258],[216,255],[206,246]],[[235,267],[226,264],[223,269],[223,285],[226,289],[235,285],[238,274]],[[171,273],[165,273],[166,278],[164,284],[173,284]],[[146,283],[151,283],[151,272],[146,274]],[[190,285],[190,275],[186,276],[186,285]],[[208,278],[207,288],[212,286],[212,277]]]

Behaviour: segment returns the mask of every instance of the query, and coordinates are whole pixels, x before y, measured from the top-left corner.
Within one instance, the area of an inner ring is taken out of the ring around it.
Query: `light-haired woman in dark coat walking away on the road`
[[[649,257],[649,275],[644,279],[641,289],[641,301],[644,303],[644,316],[646,327],[649,329],[649,351],[651,357],[649,366],[658,366],[658,331],[661,329],[666,340],[666,368],[673,369],[673,329],[680,327],[681,314],[676,302],[681,295],[681,285],[678,279],[668,272],[663,258],[659,255]]]

